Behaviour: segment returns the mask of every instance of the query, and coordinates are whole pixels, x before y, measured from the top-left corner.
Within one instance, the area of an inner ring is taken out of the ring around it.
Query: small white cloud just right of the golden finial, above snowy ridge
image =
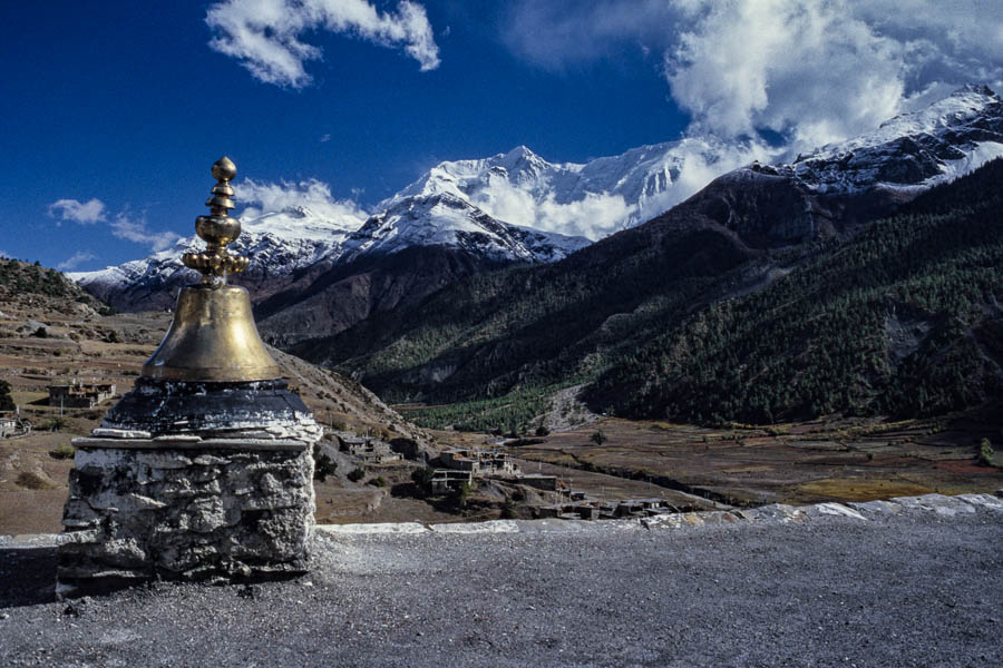
[[[352,200],[337,199],[331,186],[315,178],[299,183],[264,183],[245,178],[234,186],[240,202],[251,205],[241,218],[253,219],[262,214],[305,206],[314,214],[333,222],[361,225],[368,214]]]

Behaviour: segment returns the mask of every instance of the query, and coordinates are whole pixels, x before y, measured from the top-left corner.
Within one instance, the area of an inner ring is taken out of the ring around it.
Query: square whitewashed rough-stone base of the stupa
[[[313,458],[299,442],[78,445],[59,591],[125,579],[242,579],[308,570]]]

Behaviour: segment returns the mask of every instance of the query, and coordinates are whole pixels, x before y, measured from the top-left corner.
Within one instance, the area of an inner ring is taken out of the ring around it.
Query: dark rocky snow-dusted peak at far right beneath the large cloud
[[[873,132],[777,166],[752,163],[686,206],[756,248],[828,238],[1003,156],[1003,101],[968,86]]]

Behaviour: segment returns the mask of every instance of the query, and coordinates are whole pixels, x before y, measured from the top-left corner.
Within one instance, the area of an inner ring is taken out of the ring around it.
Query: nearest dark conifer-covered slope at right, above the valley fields
[[[588,393],[619,414],[918,415],[1003,394],[1003,161],[929,190],[767,289],[670,328]]]

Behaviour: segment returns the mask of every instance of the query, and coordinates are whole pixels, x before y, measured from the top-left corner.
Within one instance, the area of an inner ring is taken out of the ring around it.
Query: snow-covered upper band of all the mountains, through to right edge
[[[831,195],[928,188],[1003,156],[1003,102],[985,86],[970,85],[790,164],[749,165],[750,156],[765,159],[767,150],[749,141],[690,137],[575,164],[548,163],[518,146],[488,158],[440,163],[377,205],[366,220],[356,214],[329,219],[304,206],[249,209],[260,215],[243,220],[244,233],[232,248],[250,255],[245,277],[251,281],[411,246],[442,245],[493,261],[554,262],[590,239],[664,213],[730,170],[791,178]],[[181,254],[196,247],[202,243],[193,236],[144,259],[69,276],[101,298],[126,289],[149,294],[193,278]]]

